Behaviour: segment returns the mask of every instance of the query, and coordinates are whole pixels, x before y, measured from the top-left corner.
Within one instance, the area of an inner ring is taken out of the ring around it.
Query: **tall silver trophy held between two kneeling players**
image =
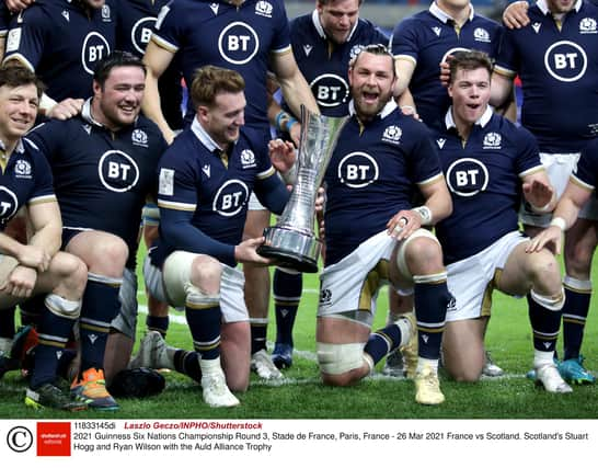
[[[314,203],[332,151],[347,117],[325,117],[301,106],[297,182],[276,226],[266,228],[257,249],[279,266],[304,273],[318,271],[322,242],[313,233]]]

